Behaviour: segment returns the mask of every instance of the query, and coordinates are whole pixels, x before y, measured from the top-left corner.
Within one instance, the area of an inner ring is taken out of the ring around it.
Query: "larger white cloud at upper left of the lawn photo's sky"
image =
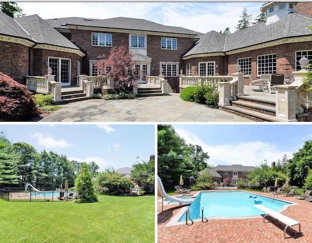
[[[43,134],[41,132],[37,132],[35,134],[29,133],[29,136],[32,139],[36,139],[37,143],[46,148],[46,149],[57,149],[57,148],[70,148],[73,146],[73,144],[67,142],[64,139],[54,139],[52,135],[50,134]]]

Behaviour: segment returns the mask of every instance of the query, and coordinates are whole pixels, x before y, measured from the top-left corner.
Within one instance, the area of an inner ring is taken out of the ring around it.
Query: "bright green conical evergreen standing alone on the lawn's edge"
[[[75,181],[75,191],[79,194],[77,203],[93,203],[98,201],[92,178],[93,175],[90,173],[88,165],[82,163]]]

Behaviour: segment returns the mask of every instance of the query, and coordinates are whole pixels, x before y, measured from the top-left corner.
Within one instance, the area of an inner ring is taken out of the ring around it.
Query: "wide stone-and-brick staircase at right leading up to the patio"
[[[266,100],[262,97],[239,96],[231,102],[231,106],[219,107],[220,110],[230,112],[257,122],[281,122],[275,117],[275,101]],[[305,121],[307,114],[297,115],[298,121]]]

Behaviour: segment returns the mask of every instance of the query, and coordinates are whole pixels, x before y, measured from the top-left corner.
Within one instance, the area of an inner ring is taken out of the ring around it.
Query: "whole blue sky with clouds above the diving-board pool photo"
[[[259,166],[267,160],[288,159],[312,140],[310,124],[253,125],[174,125],[175,131],[188,144],[198,144],[210,159],[208,164]]]

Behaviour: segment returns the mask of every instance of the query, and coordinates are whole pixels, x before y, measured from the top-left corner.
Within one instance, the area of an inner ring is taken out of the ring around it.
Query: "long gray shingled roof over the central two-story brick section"
[[[54,28],[65,28],[65,26],[61,26],[62,23],[65,23],[68,25],[82,25],[82,26],[103,27],[112,29],[127,29],[137,31],[186,34],[192,36],[200,34],[199,32],[185,29],[182,27],[162,25],[145,19],[133,19],[124,17],[117,17],[112,19],[94,19],[94,20],[85,20],[84,18],[72,17],[61,19],[47,19],[47,21]]]

